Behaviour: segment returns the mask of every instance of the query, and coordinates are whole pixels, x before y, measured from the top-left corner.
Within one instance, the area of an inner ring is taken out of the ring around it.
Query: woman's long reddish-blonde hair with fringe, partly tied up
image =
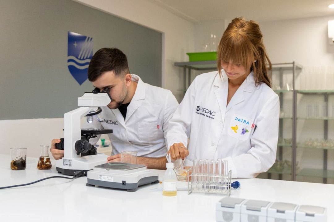
[[[244,66],[247,71],[253,70],[256,84],[264,82],[271,87],[268,71],[272,69],[272,64],[262,37],[258,23],[253,20],[246,21],[242,17],[233,19],[218,45],[219,74],[221,75],[221,62],[232,60],[234,64]]]

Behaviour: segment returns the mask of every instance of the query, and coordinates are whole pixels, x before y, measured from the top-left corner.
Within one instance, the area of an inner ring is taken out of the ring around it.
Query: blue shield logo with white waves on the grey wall
[[[81,85],[88,79],[88,65],[93,56],[93,38],[68,32],[67,67]]]

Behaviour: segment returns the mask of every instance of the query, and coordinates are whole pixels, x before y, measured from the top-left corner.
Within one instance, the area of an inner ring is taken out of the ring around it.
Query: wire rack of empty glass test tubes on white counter
[[[229,196],[232,172],[227,169],[227,161],[195,159],[192,172],[188,173],[188,194],[204,192]]]

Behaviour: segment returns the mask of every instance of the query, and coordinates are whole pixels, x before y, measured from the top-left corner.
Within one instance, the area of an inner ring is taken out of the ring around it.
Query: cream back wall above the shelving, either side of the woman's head
[[[272,63],[296,61],[304,67],[296,83],[299,89],[334,89],[334,45],[327,38],[327,22],[333,19],[334,15],[260,22]],[[211,33],[221,37],[229,22],[197,23],[195,50],[202,51],[202,44],[210,42]]]

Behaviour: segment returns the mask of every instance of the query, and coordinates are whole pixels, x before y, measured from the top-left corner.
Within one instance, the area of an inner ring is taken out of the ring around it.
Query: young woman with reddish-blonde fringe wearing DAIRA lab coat
[[[217,57],[219,71],[197,76],[170,120],[168,152],[188,166],[220,158],[232,178],[256,177],[275,162],[280,110],[259,25],[233,19]]]

